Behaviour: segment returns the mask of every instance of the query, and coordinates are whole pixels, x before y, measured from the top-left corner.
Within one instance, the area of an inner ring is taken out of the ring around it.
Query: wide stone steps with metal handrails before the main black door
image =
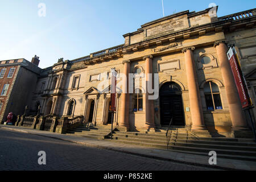
[[[216,151],[217,157],[256,161],[256,143],[253,139],[198,137],[188,129],[172,129],[168,150],[196,155]],[[110,140],[106,137],[105,140]],[[113,142],[135,144],[167,150],[166,131],[134,133],[114,131]]]

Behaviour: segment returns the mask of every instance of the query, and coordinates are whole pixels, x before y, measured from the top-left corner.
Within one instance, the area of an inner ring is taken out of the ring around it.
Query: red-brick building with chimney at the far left
[[[32,94],[41,68],[39,57],[32,61],[14,59],[0,61],[0,123],[7,120],[10,112],[23,114],[25,106],[32,100]]]

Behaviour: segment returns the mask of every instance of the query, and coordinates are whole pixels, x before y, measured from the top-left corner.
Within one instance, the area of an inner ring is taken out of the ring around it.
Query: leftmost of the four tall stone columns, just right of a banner
[[[126,127],[129,129],[129,73],[130,73],[130,63],[131,61],[123,61],[123,74],[126,76],[126,80],[123,80],[122,86],[122,101],[121,101],[121,119],[119,126]]]

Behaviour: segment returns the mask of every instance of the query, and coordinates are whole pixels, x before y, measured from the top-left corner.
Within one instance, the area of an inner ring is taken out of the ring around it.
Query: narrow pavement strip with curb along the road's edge
[[[35,133],[31,133],[29,131],[24,131],[22,129],[10,129],[9,127],[1,127],[1,126],[0,126],[0,128],[7,129],[7,130],[18,131],[18,132],[21,132],[21,133],[38,135],[40,137],[47,137],[47,138],[52,138],[52,139],[57,139],[57,140],[63,140],[65,142],[82,144],[83,146],[91,147],[91,148],[100,148],[100,149],[105,149],[105,150],[122,152],[122,153],[125,153],[125,154],[142,156],[142,157],[145,157],[145,158],[158,159],[158,160],[170,161],[170,162],[181,163],[181,164],[188,164],[188,165],[197,166],[197,167],[207,167],[207,168],[223,169],[223,170],[227,170],[227,171],[247,171],[246,169],[237,169],[237,168],[222,167],[222,166],[210,166],[209,164],[186,162],[186,161],[183,161],[183,160],[176,160],[176,159],[170,159],[170,158],[163,158],[163,157],[160,157],[160,156],[140,154],[140,153],[126,151],[126,150],[120,150],[120,149],[116,149],[116,148],[112,148],[112,147],[100,146],[100,145],[97,145],[97,144],[89,144],[89,143],[85,143],[85,142],[78,142],[78,141],[71,140],[71,139],[63,139],[63,138],[51,137],[51,136],[47,136],[47,135],[43,135],[43,134],[35,134]]]

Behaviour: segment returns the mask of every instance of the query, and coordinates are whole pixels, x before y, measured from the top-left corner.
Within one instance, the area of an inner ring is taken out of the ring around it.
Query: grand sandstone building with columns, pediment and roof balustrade
[[[223,17],[209,11],[165,16],[123,35],[122,45],[75,60],[59,59],[40,73],[30,107],[41,105],[44,115],[83,115],[85,123],[106,125],[110,93],[104,90],[109,86],[99,84],[115,68],[129,79],[134,79],[129,73],[139,79],[143,73],[159,75],[156,100],[148,100],[150,93],[141,85],[134,86],[137,93],[117,94],[114,125],[120,130],[157,130],[171,118],[172,125],[192,126],[192,131],[230,136],[247,130],[226,52],[229,45],[236,46],[255,99],[255,75],[251,81],[250,73],[255,74],[256,65],[256,9]],[[126,87],[119,89],[124,92]]]

